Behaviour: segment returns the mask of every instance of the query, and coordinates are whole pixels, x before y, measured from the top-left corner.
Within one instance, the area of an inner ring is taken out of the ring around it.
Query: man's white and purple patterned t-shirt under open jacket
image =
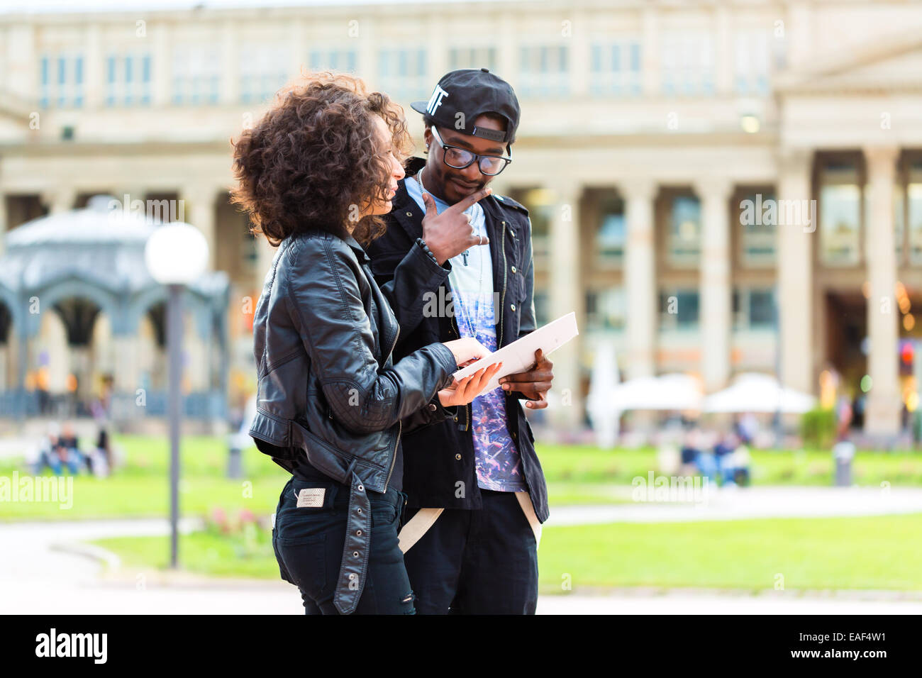
[[[426,177],[423,176],[423,183]],[[407,178],[407,192],[425,209],[420,184]],[[448,205],[432,196],[441,213]],[[465,210],[474,231],[487,237],[483,208],[475,203]],[[453,256],[448,281],[452,288],[452,306],[462,337],[474,337],[488,351],[496,351],[496,316],[493,306],[493,263],[490,244],[474,245],[466,252]],[[506,400],[502,387],[481,393],[470,404],[474,453],[477,462],[477,484],[486,490],[522,492],[526,483],[522,477],[522,462],[506,425]]]

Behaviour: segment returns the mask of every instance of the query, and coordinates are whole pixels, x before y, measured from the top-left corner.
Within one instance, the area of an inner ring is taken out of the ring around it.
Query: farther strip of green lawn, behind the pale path
[[[165,438],[121,435],[116,443],[125,451],[127,464],[112,478],[88,476],[74,479],[73,507],[56,504],[0,502],[0,520],[22,518],[74,519],[90,517],[164,516],[169,506],[169,448]],[[615,504],[627,501],[630,483],[656,470],[656,453],[650,448],[601,450],[592,446],[538,445],[538,455],[548,478],[550,503]],[[249,508],[254,514],[275,510],[287,474],[255,448],[244,452],[246,476],[241,481],[224,477],[227,447],[218,436],[187,436],[182,449],[181,510],[202,515],[207,510]],[[10,476],[21,465],[0,462],[0,475]],[[46,471],[48,472],[48,471]],[[756,484],[829,485],[833,461],[828,452],[752,453]],[[922,454],[912,452],[859,452],[855,479],[863,485],[922,485]]]

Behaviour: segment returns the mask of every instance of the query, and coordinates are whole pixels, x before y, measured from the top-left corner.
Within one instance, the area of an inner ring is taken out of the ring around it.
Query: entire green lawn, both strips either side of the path
[[[56,504],[0,502],[0,520],[89,517],[165,517],[169,450],[163,438],[122,435],[116,442],[127,464],[112,478],[78,476],[69,510]],[[630,501],[630,483],[656,469],[652,449],[600,450],[539,445],[551,506]],[[264,521],[278,502],[287,474],[255,449],[244,452],[245,477],[224,477],[227,447],[215,436],[183,439],[181,511],[205,516],[223,509],[231,518],[249,511]],[[19,470],[0,464],[0,475]],[[757,485],[829,485],[829,452],[753,452]],[[922,486],[922,454],[861,451],[859,484]],[[278,577],[265,527],[248,532],[203,531],[183,537],[181,558],[190,571],[222,577]],[[759,519],[701,523],[612,524],[548,528],[539,551],[541,586],[561,591],[594,587],[721,587],[770,589],[775,576],[786,589],[922,589],[922,517]],[[245,535],[245,536],[244,536]],[[166,563],[165,538],[100,541],[132,567]]]

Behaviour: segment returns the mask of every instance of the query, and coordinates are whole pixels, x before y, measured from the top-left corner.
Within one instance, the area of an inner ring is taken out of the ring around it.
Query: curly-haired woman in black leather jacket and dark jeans
[[[292,474],[273,547],[305,613],[414,612],[397,541],[400,436],[454,416],[500,367],[455,383],[458,365],[489,355],[474,339],[392,360],[400,328],[361,243],[384,230],[408,144],[384,94],[321,74],[283,92],[234,148],[234,199],[278,244],[254,314],[250,434]],[[438,262],[420,240],[401,266]]]

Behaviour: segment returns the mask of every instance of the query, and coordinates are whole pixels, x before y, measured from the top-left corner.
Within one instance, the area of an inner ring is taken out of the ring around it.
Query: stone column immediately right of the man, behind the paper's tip
[[[557,204],[550,225],[550,320],[576,312],[576,323],[585,332],[583,286],[579,275],[579,201],[583,187],[575,182],[558,184]],[[550,411],[554,425],[573,431],[583,422],[580,380],[580,340],[577,337],[554,351],[554,384],[560,403]]]

